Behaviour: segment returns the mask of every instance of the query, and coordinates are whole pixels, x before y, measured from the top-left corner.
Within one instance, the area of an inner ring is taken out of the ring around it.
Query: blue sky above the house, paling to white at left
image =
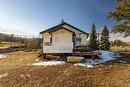
[[[95,22],[100,32],[114,25],[106,16],[115,5],[115,0],[0,0],[0,28],[38,34],[64,19],[86,32]]]

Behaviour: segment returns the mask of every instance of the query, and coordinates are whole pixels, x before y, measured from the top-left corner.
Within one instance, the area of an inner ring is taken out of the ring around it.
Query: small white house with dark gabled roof
[[[43,37],[43,53],[73,53],[74,47],[87,45],[89,35],[64,21],[40,34]]]

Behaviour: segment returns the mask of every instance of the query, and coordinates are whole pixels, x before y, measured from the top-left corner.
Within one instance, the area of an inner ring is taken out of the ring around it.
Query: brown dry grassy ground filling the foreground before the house
[[[130,64],[111,61],[93,68],[66,63],[34,66],[36,52],[9,53],[0,59],[0,87],[130,87]],[[130,57],[123,61],[130,61]]]

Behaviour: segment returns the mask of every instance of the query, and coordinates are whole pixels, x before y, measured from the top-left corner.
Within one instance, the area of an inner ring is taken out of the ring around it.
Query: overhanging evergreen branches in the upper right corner
[[[108,13],[108,18],[116,21],[112,28],[113,33],[123,33],[130,36],[130,0],[116,0],[117,7],[113,12]]]

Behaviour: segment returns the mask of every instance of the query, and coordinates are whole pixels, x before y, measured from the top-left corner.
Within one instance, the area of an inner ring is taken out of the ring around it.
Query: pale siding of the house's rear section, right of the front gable
[[[86,34],[82,33],[81,31],[78,31],[78,30],[76,30],[73,27],[70,27],[68,25],[63,25],[63,27],[75,32],[76,37],[79,37],[79,35],[80,35],[81,42],[76,42],[76,46],[79,46],[79,45],[86,46],[88,44],[88,40],[87,40],[88,36]]]

